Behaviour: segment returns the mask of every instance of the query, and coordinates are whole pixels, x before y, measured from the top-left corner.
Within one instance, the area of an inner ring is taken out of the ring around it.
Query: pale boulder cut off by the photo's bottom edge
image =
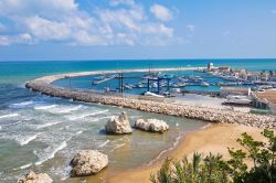
[[[18,183],[52,183],[53,180],[46,173],[35,174],[30,171],[18,180]]]

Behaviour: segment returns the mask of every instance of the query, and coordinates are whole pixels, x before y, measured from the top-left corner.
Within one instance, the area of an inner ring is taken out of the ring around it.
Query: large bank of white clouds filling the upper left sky
[[[0,34],[0,45],[51,41],[71,45],[164,45],[174,39],[173,28],[150,20],[134,0],[112,0],[110,6],[116,7],[87,12],[75,0],[2,0],[0,18],[17,24],[11,29],[18,34]],[[172,18],[167,8],[153,7],[159,20]]]

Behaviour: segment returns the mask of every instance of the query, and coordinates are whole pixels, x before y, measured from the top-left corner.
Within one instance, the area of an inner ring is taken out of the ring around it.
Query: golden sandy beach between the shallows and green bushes
[[[227,147],[241,148],[241,146],[236,142],[236,139],[241,137],[241,133],[247,132],[256,140],[264,140],[261,131],[262,130],[257,128],[238,125],[211,125],[205,129],[198,130],[185,136],[180,141],[179,146],[169,152],[167,157],[180,160],[183,155],[191,157],[192,153],[197,151],[202,154],[208,154],[209,152],[220,153],[223,154],[224,159],[227,159]],[[108,177],[107,182],[148,183],[150,182],[150,174],[157,172],[157,170],[160,168],[160,164],[161,161],[158,161],[151,165],[145,165],[134,170],[119,172],[116,175]]]

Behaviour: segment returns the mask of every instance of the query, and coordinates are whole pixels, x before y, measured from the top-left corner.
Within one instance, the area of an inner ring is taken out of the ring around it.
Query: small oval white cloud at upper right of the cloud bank
[[[153,4],[150,7],[150,12],[161,21],[169,21],[172,19],[171,11],[161,4]]]

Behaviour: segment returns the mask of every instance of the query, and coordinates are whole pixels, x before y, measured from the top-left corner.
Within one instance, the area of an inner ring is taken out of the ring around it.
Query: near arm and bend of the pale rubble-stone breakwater
[[[131,71],[132,72],[132,71]],[[102,72],[103,73],[103,72]],[[112,73],[110,71],[108,73]],[[98,74],[89,72],[86,75]],[[71,74],[71,77],[83,76]],[[66,89],[52,85],[55,79],[67,77],[67,75],[45,76],[25,84],[26,88],[54,97],[70,98],[78,101],[98,103],[103,105],[120,106],[141,111],[184,117],[210,122],[240,123],[257,128],[276,129],[274,116],[254,115],[241,111],[229,111],[225,109],[204,108],[188,105],[168,104],[162,101],[144,100],[135,96],[106,95],[81,89]]]

